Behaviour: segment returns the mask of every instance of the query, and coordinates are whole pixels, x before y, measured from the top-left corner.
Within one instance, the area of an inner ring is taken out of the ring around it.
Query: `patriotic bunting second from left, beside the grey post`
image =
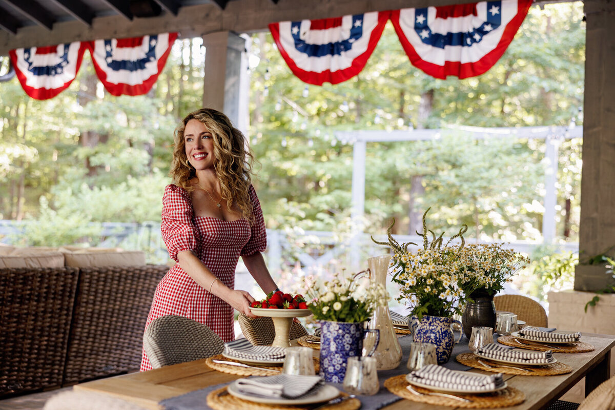
[[[111,95],[143,95],[158,79],[177,33],[88,43],[98,79]]]

